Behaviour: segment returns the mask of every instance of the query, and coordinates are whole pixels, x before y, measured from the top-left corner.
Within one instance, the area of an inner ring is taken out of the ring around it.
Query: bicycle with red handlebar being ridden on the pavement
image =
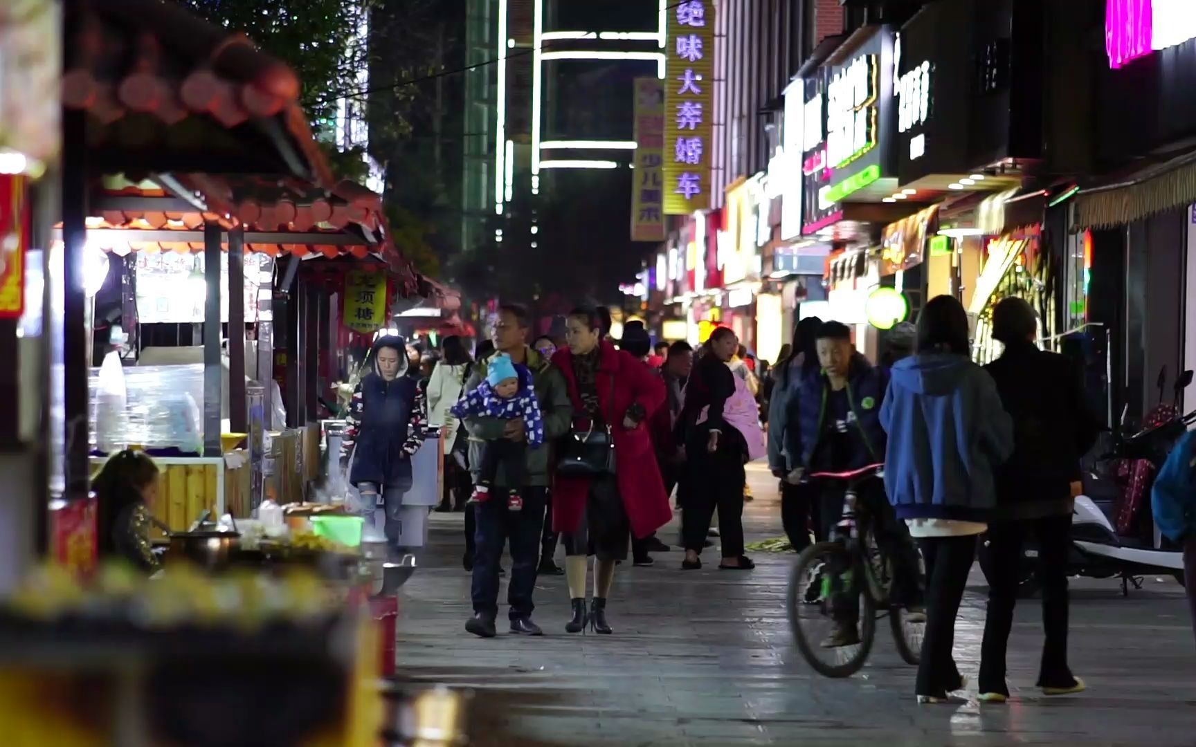
[[[905,663],[917,665],[920,661],[926,616],[889,601],[892,559],[885,557],[875,541],[867,507],[856,502],[859,485],[881,477],[883,470],[884,465],[874,464],[849,472],[816,472],[806,477],[847,482],[843,513],[832,538],[801,551],[791,573],[787,594],[789,627],[798,650],[824,676],[850,676],[864,666],[872,651],[878,610],[889,612],[897,653]],[[837,578],[831,569],[842,569]],[[861,580],[862,584],[859,583]],[[860,598],[856,616],[859,642],[823,648],[823,636],[814,635],[811,629],[819,622],[834,626],[834,602],[855,594]],[[820,654],[832,656],[834,661],[824,661]]]

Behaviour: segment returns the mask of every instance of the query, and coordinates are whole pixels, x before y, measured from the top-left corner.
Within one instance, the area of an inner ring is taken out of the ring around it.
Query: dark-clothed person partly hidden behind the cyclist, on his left
[[[773,474],[781,478],[781,523],[794,552],[801,552],[810,544],[810,514],[811,508],[817,504],[812,496],[817,496],[818,490],[807,484],[792,485],[785,482],[785,476],[801,458],[800,454],[792,458],[786,455],[785,437],[788,428],[799,427],[797,398],[801,381],[806,374],[818,368],[816,337],[820,326],[822,319],[807,317],[793,327],[792,355],[776,362],[768,403],[768,466]],[[813,526],[820,526],[818,518],[813,519]]]

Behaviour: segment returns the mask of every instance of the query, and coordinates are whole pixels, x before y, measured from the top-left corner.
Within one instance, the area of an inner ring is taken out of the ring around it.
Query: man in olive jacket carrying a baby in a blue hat
[[[573,417],[573,405],[569,402],[565,376],[548,359],[527,347],[527,314],[513,305],[499,308],[494,324],[494,348],[496,355],[506,353],[511,360],[526,366],[531,372],[532,387],[544,420],[544,443],[529,448],[526,479],[523,485],[507,484],[507,476],[499,466],[494,477],[495,488],[521,488],[523,509],[512,512],[505,501],[486,501],[474,503],[472,512],[476,529],[474,532],[474,617],[465,623],[469,632],[489,638],[495,635],[495,618],[499,611],[499,561],[502,546],[511,541],[511,583],[507,584],[507,602],[511,605],[511,632],[526,636],[542,635],[539,626],[531,622],[532,592],[536,588],[536,570],[539,562],[541,528],[544,523],[544,512],[548,506],[548,485],[551,479],[551,445],[568,433]],[[487,359],[477,361],[474,372],[465,382],[464,392],[471,392],[486,380]],[[508,437],[524,437],[521,418],[501,420],[496,417],[465,418],[469,433],[469,464],[477,479],[481,465],[482,442]],[[500,490],[501,492],[501,490]],[[466,518],[469,514],[466,514]],[[468,531],[468,529],[466,529]]]

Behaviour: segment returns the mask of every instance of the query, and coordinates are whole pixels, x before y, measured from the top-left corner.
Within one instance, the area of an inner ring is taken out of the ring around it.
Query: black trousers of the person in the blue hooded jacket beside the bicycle
[[[926,633],[915,692],[944,696],[960,684],[951,653],[956,644],[956,616],[976,557],[976,535],[929,537],[919,540],[926,561]]]

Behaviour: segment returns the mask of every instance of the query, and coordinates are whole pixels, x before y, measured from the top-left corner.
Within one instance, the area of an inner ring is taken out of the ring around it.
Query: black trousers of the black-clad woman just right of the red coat
[[[730,442],[727,442],[730,441]],[[690,458],[689,490],[682,512],[682,537],[685,550],[701,553],[710,519],[719,512],[719,535],[724,558],[744,553],[744,473],[743,451],[733,440],[720,443],[719,451],[707,453],[704,440],[688,447]]]

